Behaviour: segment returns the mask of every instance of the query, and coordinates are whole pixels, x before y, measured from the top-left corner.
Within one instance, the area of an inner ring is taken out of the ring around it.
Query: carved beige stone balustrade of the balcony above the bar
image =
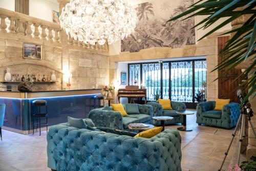
[[[23,38],[24,41],[28,42],[38,42],[39,40],[40,42],[38,43],[49,42],[60,44],[61,34],[66,34],[56,23],[3,8],[0,8],[0,19],[0,35],[5,38],[15,36],[15,38]],[[97,50],[101,53],[108,53],[109,50],[107,44],[103,46],[98,44],[84,44],[83,42],[70,38],[70,36],[68,36],[68,45],[86,49],[87,51]]]

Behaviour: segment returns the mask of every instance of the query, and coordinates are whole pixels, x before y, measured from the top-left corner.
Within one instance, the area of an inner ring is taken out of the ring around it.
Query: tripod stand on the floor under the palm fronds
[[[244,101],[244,93],[242,92],[241,89],[237,90],[237,96],[240,99],[240,102],[242,103]],[[222,169],[222,166],[223,166],[223,164],[224,164],[224,162],[226,160],[226,157],[228,155],[229,149],[230,149],[231,144],[232,144],[232,142],[234,140],[234,136],[236,136],[236,133],[237,133],[237,130],[238,130],[238,127],[239,127],[240,123],[241,123],[241,128],[240,128],[239,149],[238,149],[238,165],[240,163],[240,154],[241,154],[242,141],[245,138],[249,138],[249,137],[246,137],[246,134],[245,134],[246,133],[246,129],[245,129],[245,121],[246,121],[246,119],[248,119],[249,124],[251,125],[252,132],[254,134],[254,138],[256,138],[256,133],[255,133],[255,130],[254,130],[254,126],[253,126],[253,123],[251,122],[251,117],[252,116],[253,116],[253,112],[252,112],[252,110],[250,108],[250,103],[247,103],[247,101],[246,101],[246,102],[244,102],[242,104],[241,115],[239,116],[238,123],[236,125],[236,128],[234,129],[233,134],[232,134],[233,137],[232,137],[232,139],[231,139],[231,141],[229,143],[229,146],[227,148],[227,151],[225,153],[225,157],[224,157],[224,159],[222,161],[222,164],[221,164],[221,167],[220,167],[219,171]]]

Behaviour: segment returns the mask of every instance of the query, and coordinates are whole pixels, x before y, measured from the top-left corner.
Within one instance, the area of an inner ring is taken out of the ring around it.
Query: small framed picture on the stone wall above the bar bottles
[[[23,44],[23,57],[30,59],[41,59],[41,45],[36,44]]]

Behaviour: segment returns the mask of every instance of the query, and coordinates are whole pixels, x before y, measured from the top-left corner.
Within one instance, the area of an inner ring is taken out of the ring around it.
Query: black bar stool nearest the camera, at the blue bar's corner
[[[46,100],[34,100],[32,101],[33,106],[37,106],[37,113],[33,114],[33,134],[34,134],[34,126],[36,125],[36,129],[39,125],[39,131],[41,135],[41,117],[46,117],[46,123],[42,123],[43,125],[46,125],[46,131],[48,132],[48,120],[47,120],[47,101]],[[41,106],[46,107],[46,113],[41,113]],[[39,109],[39,110],[38,110]],[[34,117],[36,118],[36,123],[34,123]],[[39,122],[38,122],[39,119]]]

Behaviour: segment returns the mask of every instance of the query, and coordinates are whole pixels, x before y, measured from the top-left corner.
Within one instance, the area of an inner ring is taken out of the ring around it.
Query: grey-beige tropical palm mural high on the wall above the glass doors
[[[135,31],[121,42],[121,51],[138,52],[152,47],[181,48],[195,44],[195,18],[166,21],[194,4],[194,0],[152,1],[135,6],[138,23]]]

